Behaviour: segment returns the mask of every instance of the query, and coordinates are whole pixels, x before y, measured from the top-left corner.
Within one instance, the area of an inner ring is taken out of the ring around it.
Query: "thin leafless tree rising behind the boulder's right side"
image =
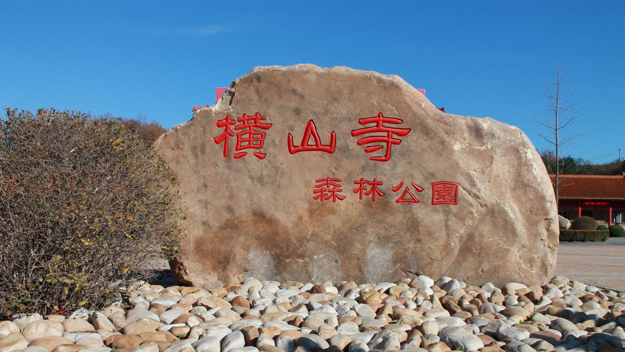
[[[575,134],[574,124],[572,124],[579,117],[579,109],[574,109],[573,104],[569,104],[566,101],[566,95],[571,91],[572,87],[566,87],[564,85],[564,74],[562,68],[557,69],[556,78],[553,81],[547,81],[542,95],[549,100],[547,104],[547,114],[544,119],[537,119],[531,116],[534,121],[540,124],[543,128],[549,130],[549,133],[540,133],[535,131],[536,134],[544,138],[554,148],[555,156],[555,175],[556,184],[554,189],[556,190],[556,205],[558,202],[557,188],[559,186],[559,175],[562,173],[562,148],[571,143],[571,140],[581,136],[582,134]],[[571,131],[572,129],[572,131]]]

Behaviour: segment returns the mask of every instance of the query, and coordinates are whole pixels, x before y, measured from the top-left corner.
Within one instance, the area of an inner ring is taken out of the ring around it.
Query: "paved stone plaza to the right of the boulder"
[[[625,291],[625,238],[561,242],[555,274],[600,288]]]

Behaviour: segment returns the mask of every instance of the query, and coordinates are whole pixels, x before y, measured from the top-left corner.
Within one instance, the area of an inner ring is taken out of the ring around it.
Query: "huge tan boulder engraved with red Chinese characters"
[[[187,207],[184,284],[544,284],[556,263],[554,193],[525,134],[443,113],[397,76],[254,68],[156,147]]]

